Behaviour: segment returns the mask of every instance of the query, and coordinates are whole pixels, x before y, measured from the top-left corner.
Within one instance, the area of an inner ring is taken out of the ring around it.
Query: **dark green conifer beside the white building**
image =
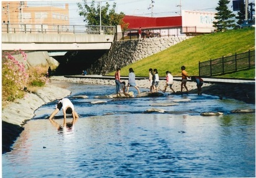
[[[228,0],[219,0],[218,2],[219,6],[216,7],[217,13],[215,15],[216,21],[213,22],[213,27],[216,28],[217,32],[224,32],[235,27],[235,20],[232,20],[235,14],[232,14],[232,11],[227,7],[229,2]]]

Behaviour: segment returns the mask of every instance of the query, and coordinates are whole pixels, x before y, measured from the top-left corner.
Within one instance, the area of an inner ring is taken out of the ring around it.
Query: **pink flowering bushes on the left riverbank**
[[[21,60],[19,60],[21,59]],[[2,53],[2,105],[25,96],[48,81],[48,66],[25,67],[27,55],[24,51]]]

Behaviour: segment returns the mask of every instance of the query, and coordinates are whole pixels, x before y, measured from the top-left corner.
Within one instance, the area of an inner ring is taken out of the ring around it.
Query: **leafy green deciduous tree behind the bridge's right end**
[[[116,13],[116,2],[114,2],[112,9],[109,9],[110,5],[108,2],[106,2],[105,6],[102,6],[100,2],[98,2],[97,7],[95,7],[95,0],[91,1],[91,6],[88,6],[87,1],[83,0],[83,4],[79,2],[78,7],[80,9],[79,15],[85,17],[84,22],[88,25],[100,25],[100,14],[101,25],[121,25],[122,29],[127,28],[129,25],[123,21],[125,16],[123,12],[120,12],[120,14]]]

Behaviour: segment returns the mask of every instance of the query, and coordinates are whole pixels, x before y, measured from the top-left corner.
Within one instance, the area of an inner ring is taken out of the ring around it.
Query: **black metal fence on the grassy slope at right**
[[[255,68],[255,50],[200,63],[199,76],[214,76]]]

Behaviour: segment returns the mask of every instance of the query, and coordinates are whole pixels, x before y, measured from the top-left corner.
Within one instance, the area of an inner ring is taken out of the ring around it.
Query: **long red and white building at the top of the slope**
[[[213,21],[215,12],[182,11],[181,16],[173,17],[140,17],[125,16],[124,22],[129,23],[129,32],[136,33],[139,27],[160,36],[197,35],[214,32]]]

